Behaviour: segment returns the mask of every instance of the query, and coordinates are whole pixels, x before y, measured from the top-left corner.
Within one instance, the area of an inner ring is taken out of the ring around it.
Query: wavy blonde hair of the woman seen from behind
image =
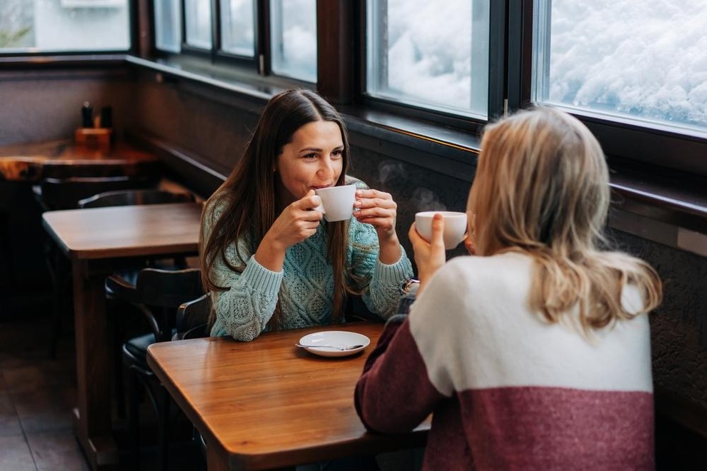
[[[557,323],[575,306],[584,333],[656,308],[658,274],[631,255],[600,250],[610,203],[601,146],[580,121],[551,108],[486,127],[467,203],[478,255],[520,251],[535,261],[533,312]],[[643,310],[621,303],[627,284]]]

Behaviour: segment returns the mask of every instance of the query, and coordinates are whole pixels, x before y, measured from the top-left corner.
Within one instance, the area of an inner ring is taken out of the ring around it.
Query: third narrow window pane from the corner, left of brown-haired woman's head
[[[255,56],[253,0],[221,0],[221,49]]]

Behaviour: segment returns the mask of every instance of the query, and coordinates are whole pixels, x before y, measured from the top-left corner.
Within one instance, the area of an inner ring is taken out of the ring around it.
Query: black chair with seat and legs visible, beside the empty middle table
[[[129,300],[144,313],[151,333],[127,340],[123,344],[123,363],[128,370],[129,427],[131,451],[135,465],[139,466],[139,397],[140,385],[144,387],[158,417],[160,469],[167,469],[169,444],[169,417],[171,398],[147,365],[147,348],[156,342],[171,340],[176,332],[176,313],[184,303],[203,294],[198,268],[185,270],[159,270],[144,268],[136,284],[124,285],[114,293]]]

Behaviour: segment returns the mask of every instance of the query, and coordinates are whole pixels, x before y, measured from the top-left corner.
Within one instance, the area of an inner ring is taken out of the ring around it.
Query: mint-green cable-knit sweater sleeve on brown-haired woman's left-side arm
[[[213,217],[205,218],[205,221],[215,221],[220,216],[220,209],[216,208]],[[211,230],[211,224],[207,222],[205,226],[206,235]],[[216,285],[228,288],[211,293],[211,303],[216,313],[211,335],[229,335],[248,342],[260,335],[272,317],[283,272],[274,272],[260,265],[249,253],[244,240],[239,240],[238,249],[235,243],[229,245],[225,256],[232,265],[245,265],[242,273],[231,270],[219,256],[209,270],[209,276]],[[247,256],[245,262],[241,260],[241,255]]]

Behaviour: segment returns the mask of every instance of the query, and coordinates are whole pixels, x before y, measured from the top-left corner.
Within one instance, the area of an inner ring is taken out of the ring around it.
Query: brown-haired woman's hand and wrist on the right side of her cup
[[[373,189],[356,190],[353,216],[361,223],[371,224],[378,233],[382,263],[396,263],[402,254],[398,234],[395,231],[398,205],[390,193]]]

